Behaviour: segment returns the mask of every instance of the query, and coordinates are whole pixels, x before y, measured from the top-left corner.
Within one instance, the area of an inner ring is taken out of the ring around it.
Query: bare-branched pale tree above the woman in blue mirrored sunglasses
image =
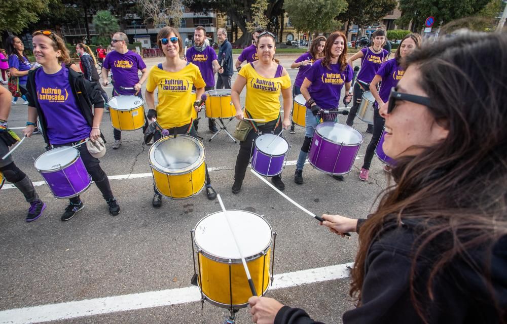
[[[176,28],[182,23],[183,0],[137,0],[147,20],[153,20],[153,24],[172,25]]]

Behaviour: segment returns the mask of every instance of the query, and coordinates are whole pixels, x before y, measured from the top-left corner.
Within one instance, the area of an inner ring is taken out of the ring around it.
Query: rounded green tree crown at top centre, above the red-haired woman
[[[329,32],[338,29],[335,17],[347,6],[345,0],[285,0],[283,9],[298,31]]]

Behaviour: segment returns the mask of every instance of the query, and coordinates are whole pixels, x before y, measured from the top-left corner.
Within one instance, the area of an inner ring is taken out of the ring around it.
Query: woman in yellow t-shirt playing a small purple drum
[[[236,118],[240,120],[238,128],[245,125],[246,135],[239,143],[239,152],[234,169],[234,184],[232,192],[241,190],[248,161],[252,154],[252,143],[259,133],[276,134],[291,126],[291,78],[287,71],[278,64],[275,55],[275,36],[270,32],[263,32],[257,38],[257,53],[259,60],[246,64],[238,73],[231,90],[231,99],[236,108]],[[246,86],[245,111],[241,109],[239,94]],[[283,122],[280,118],[280,91],[283,96]],[[243,118],[257,119],[246,121]],[[273,184],[280,190],[285,188],[280,175],[271,178]]]

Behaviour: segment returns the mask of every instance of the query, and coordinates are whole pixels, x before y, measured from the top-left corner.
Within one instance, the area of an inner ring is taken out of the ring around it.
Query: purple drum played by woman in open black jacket
[[[52,149],[39,156],[34,165],[57,198],[75,197],[92,183],[79,151],[72,147]]]

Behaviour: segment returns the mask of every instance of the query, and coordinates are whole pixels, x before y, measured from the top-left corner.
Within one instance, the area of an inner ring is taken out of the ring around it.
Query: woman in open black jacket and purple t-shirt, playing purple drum
[[[39,116],[44,140],[51,148],[74,146],[88,137],[96,141],[102,136],[100,121],[104,111],[104,99],[97,84],[65,65],[70,63],[69,52],[62,38],[54,32],[36,31],[32,42],[35,60],[42,68],[28,74],[28,121],[23,133],[28,137],[32,135]],[[99,159],[90,154],[86,145],[77,149],[86,171],[109,206],[109,213],[118,215],[120,206],[113,196],[107,175],[100,168]],[[69,200],[70,204],[61,216],[62,221],[71,219],[85,207],[79,196]]]

